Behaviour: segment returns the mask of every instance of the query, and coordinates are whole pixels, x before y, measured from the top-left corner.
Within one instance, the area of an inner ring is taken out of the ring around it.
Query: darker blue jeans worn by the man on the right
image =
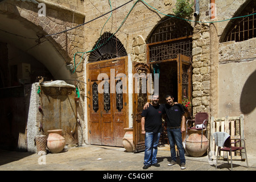
[[[185,160],[185,152],[182,144],[182,134],[180,129],[170,129],[167,127],[167,135],[170,143],[171,149],[171,158],[176,162],[176,152],[175,152],[175,143],[177,145],[177,149],[179,150],[180,155],[180,164],[186,163]]]

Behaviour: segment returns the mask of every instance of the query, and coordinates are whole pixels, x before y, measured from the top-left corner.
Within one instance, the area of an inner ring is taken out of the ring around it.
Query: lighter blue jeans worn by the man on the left
[[[158,162],[156,155],[158,154],[159,138],[160,133],[145,134],[144,165],[151,165]]]

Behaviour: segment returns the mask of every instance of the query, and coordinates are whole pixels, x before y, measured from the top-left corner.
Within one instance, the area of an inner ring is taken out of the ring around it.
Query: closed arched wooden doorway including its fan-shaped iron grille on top
[[[89,143],[122,147],[124,129],[129,126],[126,49],[113,34],[105,32],[88,60]]]

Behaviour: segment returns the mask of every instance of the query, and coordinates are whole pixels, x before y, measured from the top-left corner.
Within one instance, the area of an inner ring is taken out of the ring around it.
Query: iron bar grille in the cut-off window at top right
[[[255,2],[249,3],[245,9],[236,16],[245,16],[242,18],[236,18],[231,20],[232,27],[228,31],[228,35],[224,42],[235,41],[241,42],[244,40],[252,39],[256,37],[256,13]]]

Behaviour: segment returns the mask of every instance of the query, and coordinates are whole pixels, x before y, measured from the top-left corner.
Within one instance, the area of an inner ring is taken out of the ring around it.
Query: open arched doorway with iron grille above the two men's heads
[[[159,94],[162,98],[167,93],[173,94],[178,102],[184,96],[191,98],[192,34],[193,27],[185,20],[165,17],[146,40],[147,63],[152,65],[152,72],[160,73]],[[187,57],[188,61],[181,61],[183,58],[179,55]],[[183,64],[185,62],[188,64]]]

